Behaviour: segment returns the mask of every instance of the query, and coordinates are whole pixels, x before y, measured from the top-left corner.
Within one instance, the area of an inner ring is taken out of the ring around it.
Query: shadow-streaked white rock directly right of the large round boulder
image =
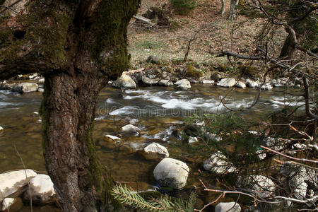
[[[205,160],[203,167],[205,170],[210,170],[220,175],[237,172],[237,169],[232,163],[228,162],[225,155],[220,151],[213,153],[210,158]]]

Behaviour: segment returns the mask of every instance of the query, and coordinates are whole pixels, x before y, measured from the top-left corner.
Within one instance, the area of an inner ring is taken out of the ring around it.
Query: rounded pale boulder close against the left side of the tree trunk
[[[24,194],[24,199],[40,201],[45,203],[55,195],[54,184],[49,175],[37,175],[30,180],[27,192]]]

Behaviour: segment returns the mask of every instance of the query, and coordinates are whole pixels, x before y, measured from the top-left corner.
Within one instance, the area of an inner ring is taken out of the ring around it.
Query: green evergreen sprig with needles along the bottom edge
[[[173,199],[167,195],[161,195],[157,199],[151,199],[146,201],[133,189],[122,187],[122,185],[117,184],[112,189],[112,196],[114,199],[122,202],[122,204],[129,205],[133,208],[140,208],[144,211],[163,211],[163,212],[192,212],[194,211],[194,204],[196,203],[196,193],[192,192],[189,196],[188,201],[183,199]]]

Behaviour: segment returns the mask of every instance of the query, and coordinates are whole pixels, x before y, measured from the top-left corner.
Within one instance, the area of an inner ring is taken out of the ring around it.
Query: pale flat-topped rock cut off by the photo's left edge
[[[7,196],[19,192],[37,173],[33,170],[19,170],[0,174],[0,202]]]

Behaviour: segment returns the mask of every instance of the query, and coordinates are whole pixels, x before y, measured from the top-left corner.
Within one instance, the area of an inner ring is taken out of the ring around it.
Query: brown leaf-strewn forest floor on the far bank
[[[149,56],[160,59],[182,61],[189,40],[194,39],[189,51],[189,61],[198,64],[226,64],[226,57],[215,57],[215,52],[228,50],[240,54],[252,54],[258,44],[257,35],[264,25],[264,18],[248,18],[237,11],[235,20],[228,20],[230,1],[225,0],[225,14],[220,15],[221,2],[199,0],[197,7],[187,16],[173,11],[169,1],[143,0],[139,15],[151,6],[162,8],[171,15],[170,26],[145,28],[135,23],[129,25],[129,53],[132,64],[145,61]],[[273,35],[271,42],[281,46],[285,37],[282,29]]]

